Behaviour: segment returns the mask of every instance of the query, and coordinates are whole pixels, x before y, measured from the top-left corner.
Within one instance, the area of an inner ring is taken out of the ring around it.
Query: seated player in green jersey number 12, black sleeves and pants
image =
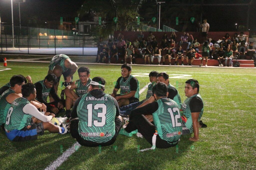
[[[120,134],[130,136],[129,133],[137,129],[153,145],[148,149],[173,147],[182,135],[179,104],[166,97],[168,87],[165,83],[157,83],[153,90],[156,101],[132,110],[130,120],[124,125],[126,127],[121,129]],[[144,115],[152,115],[154,124]]]

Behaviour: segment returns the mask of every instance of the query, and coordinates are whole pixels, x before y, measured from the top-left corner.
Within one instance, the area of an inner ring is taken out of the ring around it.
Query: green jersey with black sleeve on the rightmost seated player
[[[204,103],[200,94],[195,94],[187,98],[181,107],[182,120],[185,126],[189,129],[190,133],[193,132],[191,113],[199,113],[198,122],[200,121],[204,112]]]

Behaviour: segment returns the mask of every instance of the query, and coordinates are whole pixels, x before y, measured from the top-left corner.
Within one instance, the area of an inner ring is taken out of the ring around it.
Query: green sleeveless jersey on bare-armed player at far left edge
[[[13,89],[8,89],[0,96],[0,125],[5,123],[7,111],[10,108],[10,103],[6,101],[6,97],[11,94],[15,93]]]

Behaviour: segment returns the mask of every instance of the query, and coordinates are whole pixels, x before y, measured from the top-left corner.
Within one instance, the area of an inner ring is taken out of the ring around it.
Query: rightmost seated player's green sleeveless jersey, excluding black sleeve
[[[203,99],[202,99],[200,94],[195,94],[195,95],[187,98],[183,102],[182,107],[181,107],[183,112],[184,112],[184,113],[182,113],[182,116],[184,118],[183,121],[185,122],[185,126],[189,129],[190,133],[193,132],[193,126],[192,126],[192,117],[191,117],[191,111],[190,111],[190,107],[189,107],[189,102],[194,97],[199,97],[203,101]],[[203,112],[204,112],[204,106],[203,106],[201,112],[199,113],[198,122],[200,121]]]

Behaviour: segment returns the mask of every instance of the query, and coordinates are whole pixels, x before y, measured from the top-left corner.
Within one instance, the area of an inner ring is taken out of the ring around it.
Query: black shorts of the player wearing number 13
[[[113,138],[105,143],[96,143],[96,142],[92,142],[89,140],[84,140],[79,135],[78,123],[79,123],[79,119],[73,119],[70,121],[70,133],[71,133],[72,137],[75,138],[80,145],[87,146],[87,147],[98,147],[99,145],[101,145],[101,146],[112,145],[115,142],[116,137],[122,127],[121,120],[119,118],[115,117],[115,134],[114,134]]]

